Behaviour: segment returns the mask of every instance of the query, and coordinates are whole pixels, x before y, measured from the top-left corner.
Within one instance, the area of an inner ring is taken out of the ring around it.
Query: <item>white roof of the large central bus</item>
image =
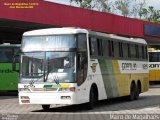
[[[135,42],[135,43],[141,43],[141,44],[147,44],[147,42],[144,39],[140,38],[127,38],[127,37],[121,37],[114,34],[106,34],[101,32],[95,32],[90,31],[87,29],[81,29],[81,28],[74,28],[74,27],[65,27],[65,28],[48,28],[48,29],[40,29],[40,30],[32,30],[25,32],[23,36],[37,36],[37,35],[58,35],[58,34],[77,34],[77,33],[88,33],[93,36],[99,36],[103,38],[111,38],[111,39],[117,39],[127,42]]]

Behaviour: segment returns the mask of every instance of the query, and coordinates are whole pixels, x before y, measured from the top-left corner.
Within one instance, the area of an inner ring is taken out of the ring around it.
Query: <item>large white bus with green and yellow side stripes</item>
[[[83,104],[148,90],[148,53],[143,39],[80,28],[50,28],[23,34],[19,103]]]

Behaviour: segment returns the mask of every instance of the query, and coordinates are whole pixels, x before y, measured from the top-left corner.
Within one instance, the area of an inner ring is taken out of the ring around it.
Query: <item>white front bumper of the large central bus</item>
[[[70,93],[19,93],[20,104],[77,104],[76,94]]]

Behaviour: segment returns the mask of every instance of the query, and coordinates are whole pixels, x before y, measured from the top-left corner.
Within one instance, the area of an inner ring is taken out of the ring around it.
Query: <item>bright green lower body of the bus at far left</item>
[[[0,63],[0,90],[17,90],[18,73],[12,71],[12,63]]]

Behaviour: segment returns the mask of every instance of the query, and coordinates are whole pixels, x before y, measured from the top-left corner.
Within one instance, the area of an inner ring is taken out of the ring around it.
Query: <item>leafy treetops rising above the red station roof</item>
[[[153,6],[146,8],[146,0],[70,0],[81,8],[160,22],[160,10]]]

